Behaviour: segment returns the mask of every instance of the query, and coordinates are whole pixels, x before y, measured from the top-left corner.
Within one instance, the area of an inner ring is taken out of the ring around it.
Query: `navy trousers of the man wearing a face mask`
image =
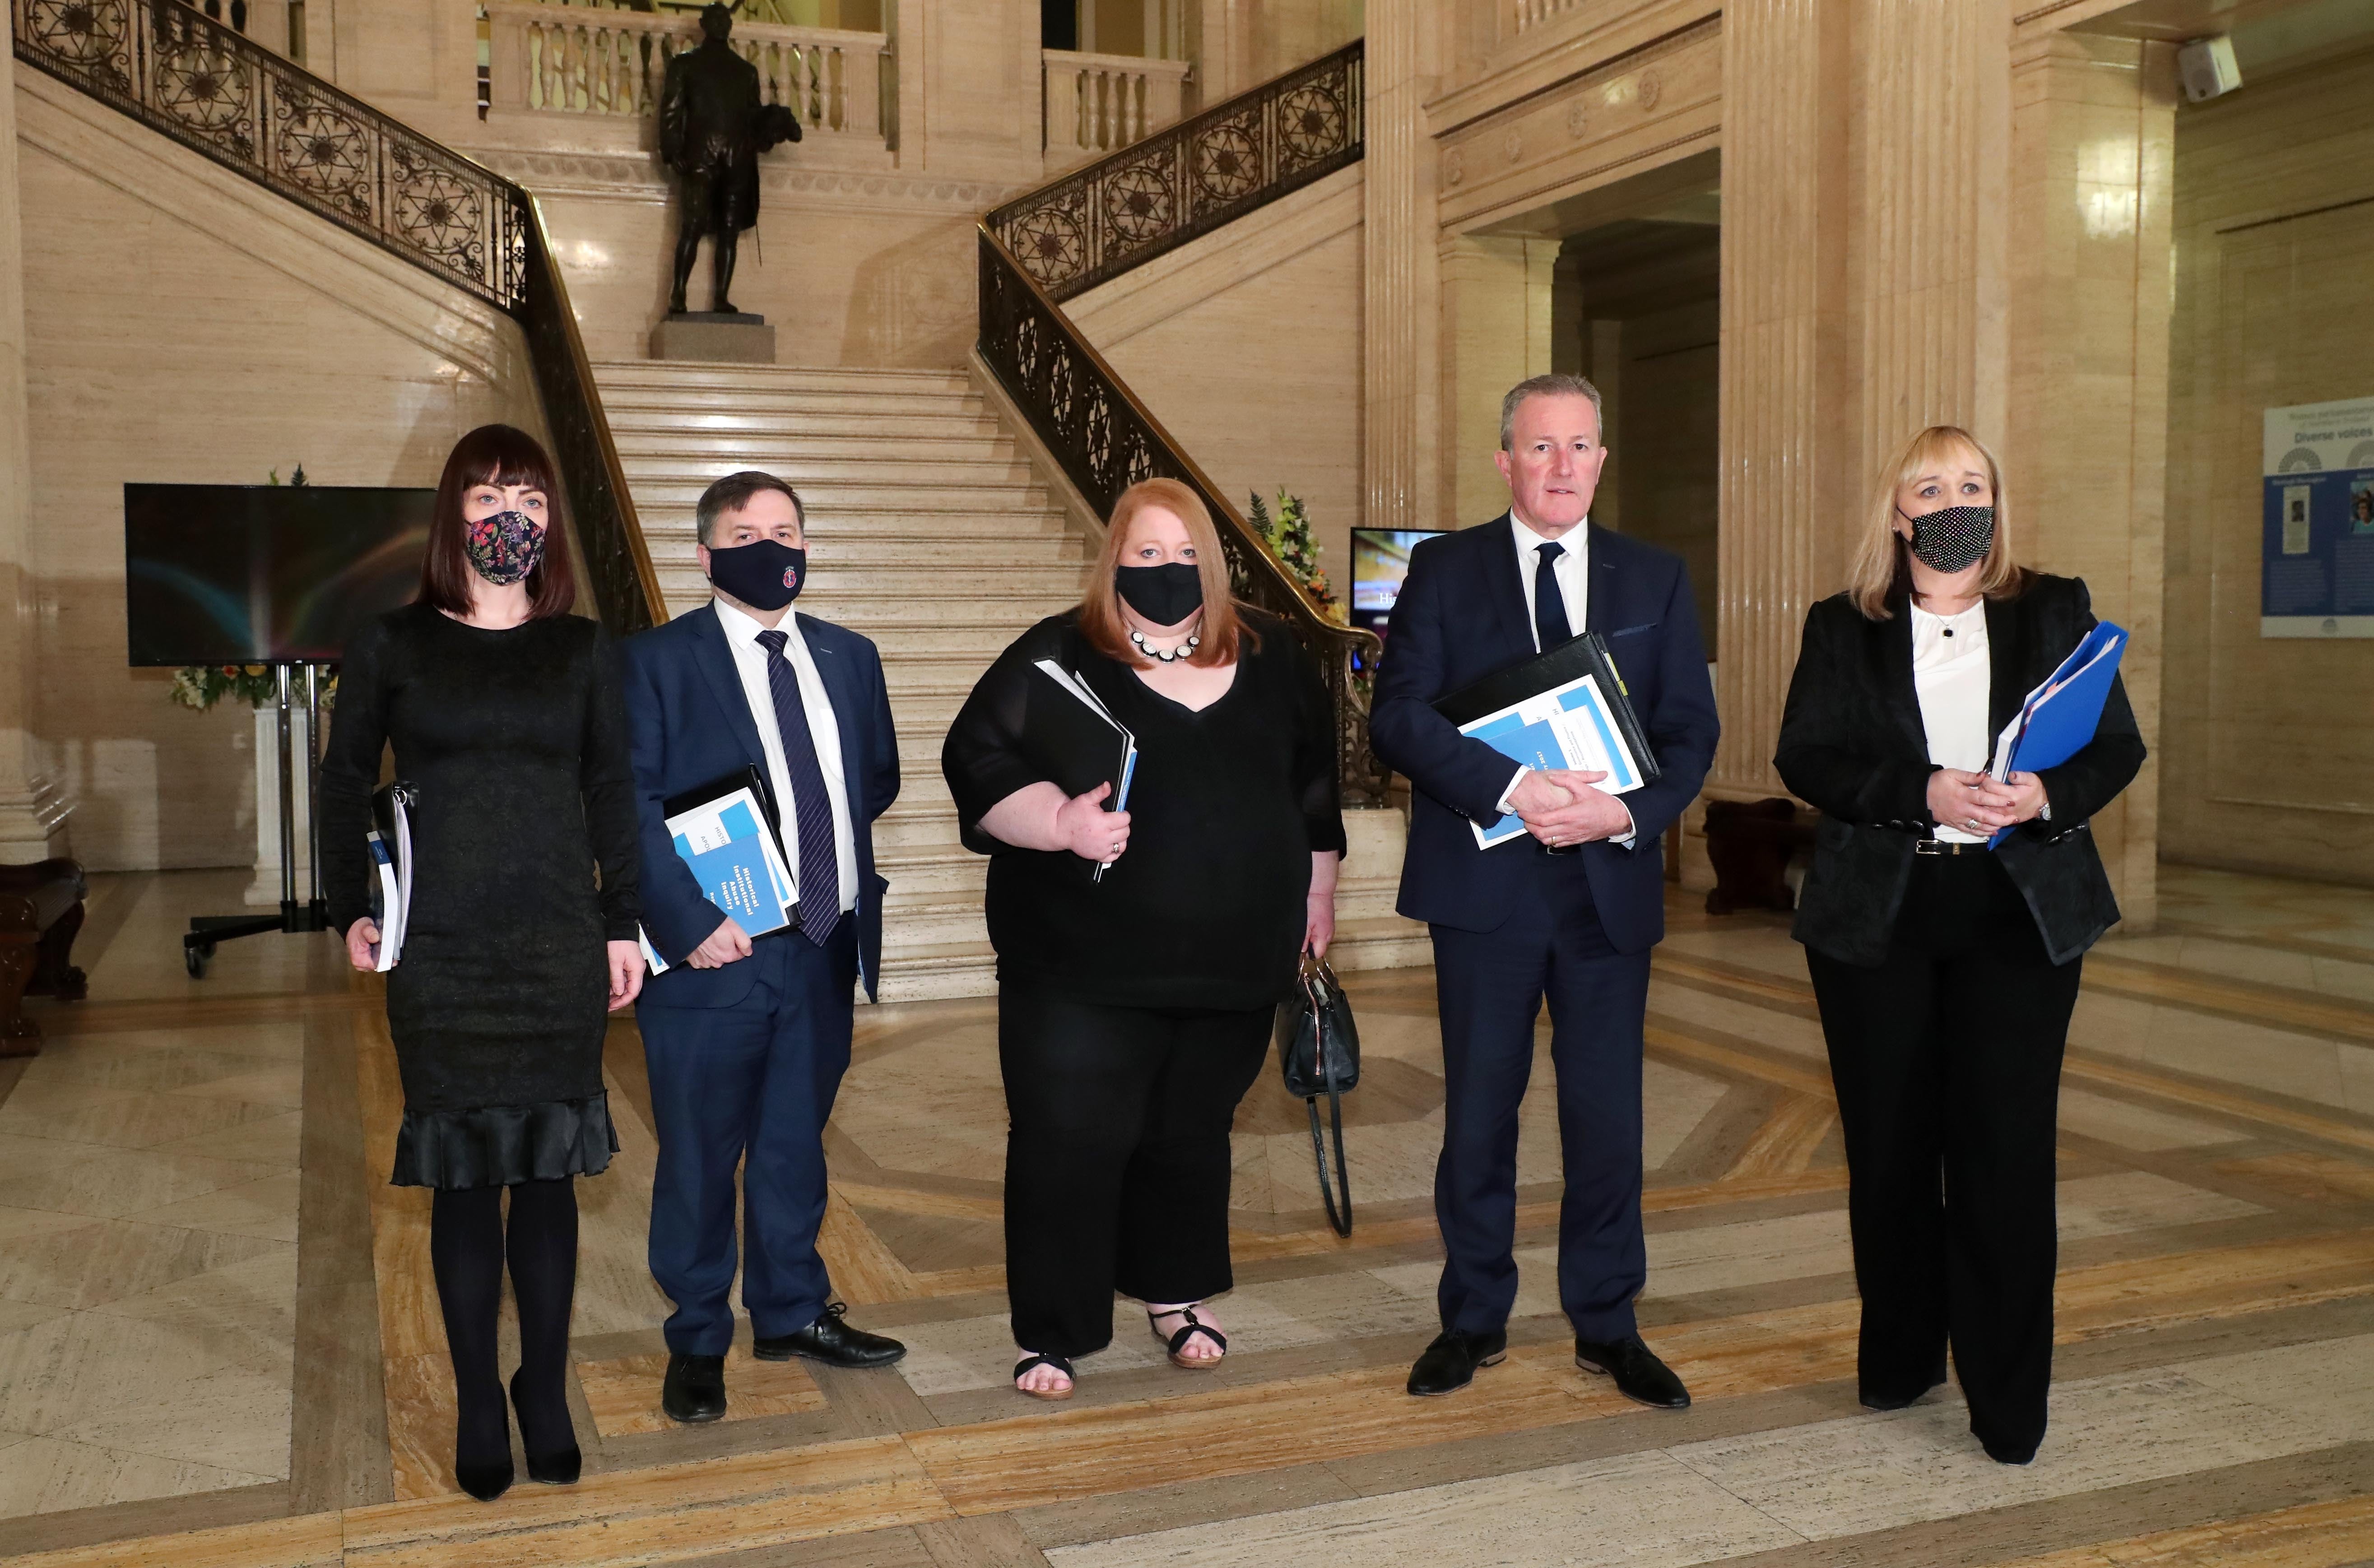
[[[833,1293],[817,1226],[824,1122],[850,1067],[857,920],[843,918],[824,946],[798,932],[760,937],[741,963],[755,965],[753,984],[731,1008],[636,1008],[660,1134],[650,1276],[677,1302],[667,1347],[679,1355],[734,1343],[736,1167],[750,1331],[798,1333]]]

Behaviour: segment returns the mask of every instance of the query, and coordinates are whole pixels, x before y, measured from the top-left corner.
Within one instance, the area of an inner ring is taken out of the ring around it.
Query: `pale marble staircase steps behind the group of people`
[[[883,1001],[992,992],[988,861],[957,840],[940,738],[1018,631],[1078,603],[1092,541],[961,370],[631,361],[594,380],[669,614],[707,600],[693,503],[712,479],[762,467],[800,491],[800,610],[874,638],[900,728],[900,797],[874,823]],[[1394,916],[1401,814],[1353,814],[1351,840],[1337,968],[1432,961]]]

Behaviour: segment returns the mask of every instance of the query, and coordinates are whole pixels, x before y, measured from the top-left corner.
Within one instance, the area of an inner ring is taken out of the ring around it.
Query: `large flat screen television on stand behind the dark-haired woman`
[[[437,491],[126,484],[133,664],[335,662],[411,603]]]

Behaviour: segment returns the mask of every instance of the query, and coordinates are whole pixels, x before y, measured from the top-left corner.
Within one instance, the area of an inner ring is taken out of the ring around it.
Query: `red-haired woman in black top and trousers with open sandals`
[[[1137,738],[1128,811],[1056,783],[1078,759],[1035,738],[1078,697],[1040,659]],[[1344,814],[1318,671],[1230,600],[1194,491],[1149,479],[1113,503],[1087,598],[999,655],[940,766],[964,842],[992,856],[1014,1383],[1071,1397],[1071,1357],[1113,1338],[1116,1288],[1175,1364],[1213,1366],[1227,1129],[1299,954],[1334,937]]]

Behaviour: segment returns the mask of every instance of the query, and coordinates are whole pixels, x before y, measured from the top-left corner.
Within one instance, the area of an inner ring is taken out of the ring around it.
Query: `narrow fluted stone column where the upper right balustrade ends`
[[[1434,145],[1427,138],[1432,0],[1367,7],[1367,178],[1360,266],[1363,332],[1360,522],[1372,529],[1446,527],[1436,479]]]

